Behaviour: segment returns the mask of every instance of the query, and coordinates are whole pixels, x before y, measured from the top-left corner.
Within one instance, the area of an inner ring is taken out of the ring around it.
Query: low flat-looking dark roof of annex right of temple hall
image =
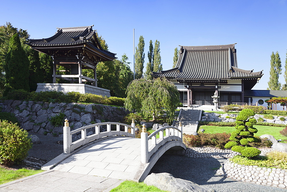
[[[245,97],[287,97],[287,91],[281,90],[244,90]]]

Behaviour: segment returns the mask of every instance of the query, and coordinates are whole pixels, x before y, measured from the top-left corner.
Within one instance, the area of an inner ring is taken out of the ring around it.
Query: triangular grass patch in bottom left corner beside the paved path
[[[34,175],[40,172],[43,172],[43,170],[33,170],[24,168],[18,170],[8,170],[0,167],[0,185],[23,177]]]

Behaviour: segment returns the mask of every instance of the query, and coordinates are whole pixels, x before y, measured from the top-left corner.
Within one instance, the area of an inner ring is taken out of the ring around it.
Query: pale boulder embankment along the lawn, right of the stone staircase
[[[212,121],[212,122],[235,122],[235,118],[237,117],[236,114],[218,114],[218,113],[208,113],[208,112],[203,112],[203,116],[201,117],[201,121]],[[275,124],[287,124],[287,117],[283,116],[273,116],[273,119],[266,119],[264,118],[264,115],[260,114],[255,114],[253,116],[256,120],[259,118],[263,119],[263,122],[267,123],[275,123]],[[282,121],[280,118],[284,118],[285,120]]]

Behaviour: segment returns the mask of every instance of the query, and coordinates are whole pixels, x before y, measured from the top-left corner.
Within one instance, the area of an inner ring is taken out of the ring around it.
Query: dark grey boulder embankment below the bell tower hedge
[[[64,119],[69,120],[71,130],[82,126],[100,122],[119,122],[129,113],[124,107],[112,107],[102,104],[77,104],[77,103],[45,103],[34,101],[6,100],[0,102],[2,112],[11,112],[21,124],[21,128],[39,134],[60,135],[63,126],[55,127],[51,117],[64,114]],[[104,128],[103,128],[104,129]],[[92,135],[94,130],[90,128],[87,135]],[[80,132],[79,132],[80,133]],[[73,137],[80,138],[74,134]]]

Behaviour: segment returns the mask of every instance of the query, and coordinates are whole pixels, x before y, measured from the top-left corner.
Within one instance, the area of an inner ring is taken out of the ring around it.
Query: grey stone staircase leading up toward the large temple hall
[[[183,133],[191,135],[197,130],[201,113],[202,110],[181,109],[177,120],[173,121],[172,126],[179,126],[179,122],[181,122]]]

